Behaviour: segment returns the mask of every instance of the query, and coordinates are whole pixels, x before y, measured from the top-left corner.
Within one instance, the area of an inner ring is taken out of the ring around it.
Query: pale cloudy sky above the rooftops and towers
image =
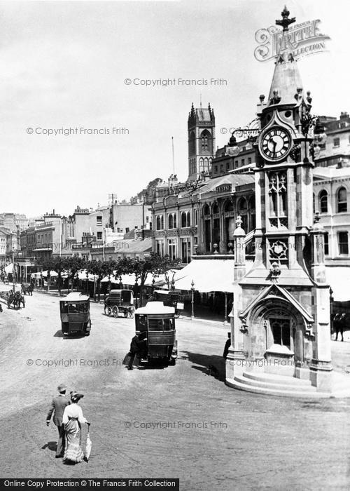
[[[275,0],[0,1],[0,212],[71,215],[76,206],[106,205],[111,193],[130,199],[172,173],[172,137],[175,172],[186,180],[192,102],[210,102],[219,147],[230,136],[221,128],[255,118],[274,71],[274,60],[256,60],[255,33],[274,25],[283,6]],[[349,1],[287,6],[297,23],[320,19],[330,36],[328,51],[298,62],[312,112],[350,112]],[[141,85],[158,79],[176,83]],[[62,134],[69,128],[71,134]],[[93,129],[102,134],[89,134]]]

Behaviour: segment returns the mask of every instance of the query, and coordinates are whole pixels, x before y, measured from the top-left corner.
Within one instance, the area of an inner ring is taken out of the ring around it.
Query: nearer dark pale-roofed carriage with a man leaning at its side
[[[175,365],[177,341],[175,330],[175,309],[162,302],[148,302],[146,307],[135,311],[136,333],[145,332],[146,351],[141,359],[162,361]]]

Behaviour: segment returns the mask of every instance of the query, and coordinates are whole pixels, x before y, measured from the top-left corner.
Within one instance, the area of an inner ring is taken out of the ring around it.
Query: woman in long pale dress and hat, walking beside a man
[[[83,450],[81,449],[81,425],[89,424],[83,416],[83,410],[78,405],[78,401],[84,397],[83,394],[71,392],[71,404],[66,405],[64,409],[62,423],[66,436],[66,445],[64,449],[63,462],[82,462],[84,459]]]

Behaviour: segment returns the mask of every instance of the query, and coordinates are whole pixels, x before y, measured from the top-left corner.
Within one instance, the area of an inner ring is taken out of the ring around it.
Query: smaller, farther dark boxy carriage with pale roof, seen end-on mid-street
[[[69,293],[59,301],[62,333],[90,335],[90,297],[78,292]]]

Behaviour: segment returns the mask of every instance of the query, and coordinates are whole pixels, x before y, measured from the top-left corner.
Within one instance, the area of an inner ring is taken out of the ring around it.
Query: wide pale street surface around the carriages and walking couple
[[[213,323],[180,319],[176,366],[128,372],[120,363],[134,321],[108,318],[98,304],[91,311],[90,337],[71,339],[60,333],[57,297],[36,292],[26,309],[0,314],[1,477],[167,477],[186,491],[349,489],[349,400],[228,388],[207,375],[210,363],[223,370],[227,329]],[[343,370],[350,343],[333,347]],[[45,415],[62,382],[85,394],[88,464],[55,459],[56,429]]]

